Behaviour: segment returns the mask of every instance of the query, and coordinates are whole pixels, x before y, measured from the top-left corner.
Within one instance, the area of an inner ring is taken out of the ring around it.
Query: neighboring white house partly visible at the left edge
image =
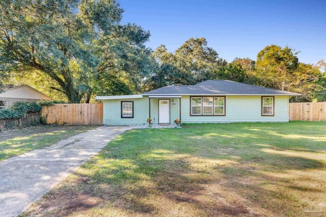
[[[51,100],[50,97],[27,84],[5,84],[1,90],[4,92],[0,94],[0,109],[8,108],[15,102]]]

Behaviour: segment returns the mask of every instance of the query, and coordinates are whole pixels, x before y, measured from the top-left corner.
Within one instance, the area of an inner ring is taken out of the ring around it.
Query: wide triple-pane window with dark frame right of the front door
[[[225,115],[225,97],[191,97],[191,115]]]

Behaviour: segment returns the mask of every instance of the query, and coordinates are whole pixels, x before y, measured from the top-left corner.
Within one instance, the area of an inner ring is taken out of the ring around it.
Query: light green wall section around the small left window
[[[121,101],[133,101],[133,118],[121,118]],[[135,123],[146,123],[147,118],[149,118],[148,97],[103,100],[104,125],[132,125]]]

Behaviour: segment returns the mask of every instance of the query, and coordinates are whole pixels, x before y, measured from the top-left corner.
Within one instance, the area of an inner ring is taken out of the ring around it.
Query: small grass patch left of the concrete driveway
[[[94,129],[95,127],[97,126],[47,125],[0,132],[0,161],[50,146],[60,140]]]

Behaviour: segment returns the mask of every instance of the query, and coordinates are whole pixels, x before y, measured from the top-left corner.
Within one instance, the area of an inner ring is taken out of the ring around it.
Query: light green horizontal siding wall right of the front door
[[[194,122],[288,122],[288,96],[275,96],[275,116],[261,116],[261,96],[226,96],[226,116],[190,116],[189,96],[181,98],[181,120]]]

